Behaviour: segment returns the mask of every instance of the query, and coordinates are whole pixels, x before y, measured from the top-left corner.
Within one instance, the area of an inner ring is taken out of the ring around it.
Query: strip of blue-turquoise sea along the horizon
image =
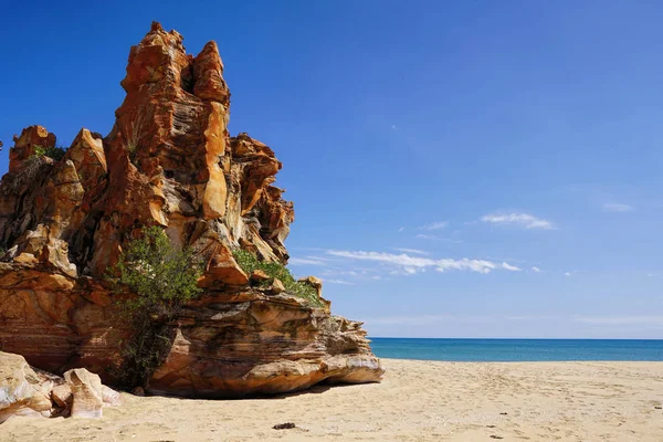
[[[370,338],[381,358],[453,361],[660,360],[663,340]]]

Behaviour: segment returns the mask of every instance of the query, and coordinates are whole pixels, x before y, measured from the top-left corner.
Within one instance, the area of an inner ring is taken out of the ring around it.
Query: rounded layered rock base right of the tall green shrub
[[[188,306],[152,392],[214,398],[379,380],[359,323],[286,293],[219,294]]]

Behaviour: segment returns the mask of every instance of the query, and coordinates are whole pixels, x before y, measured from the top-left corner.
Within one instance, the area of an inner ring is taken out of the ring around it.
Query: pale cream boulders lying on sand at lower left
[[[119,393],[84,368],[65,379],[34,370],[20,355],[0,351],[0,423],[13,415],[101,418],[105,406],[118,406]]]

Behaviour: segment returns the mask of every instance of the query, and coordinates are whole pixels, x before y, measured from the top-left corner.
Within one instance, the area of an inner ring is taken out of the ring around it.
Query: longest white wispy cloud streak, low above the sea
[[[397,266],[399,271],[397,273],[414,274],[423,272],[427,269],[435,270],[436,272],[444,273],[448,271],[470,271],[477,273],[491,273],[493,270],[503,269],[508,271],[519,270],[507,263],[496,264],[492,261],[486,260],[470,260],[463,257],[461,260],[442,259],[433,260],[430,257],[422,256],[410,256],[407,253],[393,254],[385,252],[365,252],[365,251],[347,251],[347,250],[329,250],[328,254],[333,256],[347,257],[351,260],[360,261],[372,261],[382,264],[390,264]]]

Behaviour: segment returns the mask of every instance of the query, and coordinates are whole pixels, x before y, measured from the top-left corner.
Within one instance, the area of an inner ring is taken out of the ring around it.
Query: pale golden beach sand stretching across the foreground
[[[123,393],[97,420],[12,418],[0,440],[663,441],[663,362],[383,362],[382,383],[271,399]]]

